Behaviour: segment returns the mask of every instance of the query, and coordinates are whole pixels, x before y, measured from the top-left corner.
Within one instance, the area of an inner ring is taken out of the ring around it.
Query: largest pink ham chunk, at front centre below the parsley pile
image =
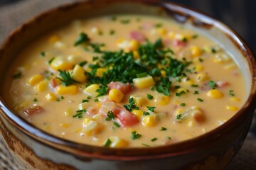
[[[112,111],[114,113],[114,117],[119,120],[123,127],[132,126],[139,122],[136,115],[114,102],[102,103],[100,113],[107,115],[108,111]]]

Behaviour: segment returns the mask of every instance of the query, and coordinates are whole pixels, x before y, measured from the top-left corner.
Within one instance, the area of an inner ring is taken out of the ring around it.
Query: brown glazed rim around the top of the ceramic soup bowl
[[[22,34],[23,29],[29,28],[30,25],[33,25],[38,20],[41,20],[44,16],[49,16],[53,13],[58,13],[59,11],[68,11],[71,8],[75,8],[76,6],[107,6],[113,3],[139,3],[146,4],[149,6],[159,6],[161,9],[169,13],[171,16],[176,18],[176,16],[185,17],[186,21],[193,21],[192,23],[195,26],[205,27],[206,29],[210,27],[215,27],[223,31],[227,37],[232,40],[232,42],[238,47],[242,55],[248,62],[250,67],[250,72],[252,74],[252,84],[250,89],[250,96],[247,98],[244,106],[238,111],[233,118],[230,118],[225,124],[221,125],[215,130],[212,130],[205,135],[201,135],[199,137],[195,137],[191,140],[186,140],[183,142],[174,143],[172,145],[161,146],[161,147],[141,147],[141,148],[105,148],[105,147],[97,147],[91,145],[82,145],[76,142],[70,142],[68,140],[63,140],[59,137],[55,137],[50,135],[47,132],[43,132],[42,130],[38,130],[35,126],[23,120],[18,115],[16,115],[11,108],[4,101],[2,95],[0,95],[0,108],[2,110],[1,114],[4,118],[14,125],[15,128],[23,132],[24,134],[31,137],[33,140],[37,142],[41,142],[43,145],[47,147],[51,147],[53,149],[58,149],[61,152],[69,153],[74,155],[75,157],[79,157],[80,159],[107,159],[107,160],[124,160],[124,161],[132,161],[132,160],[142,160],[142,159],[158,159],[164,157],[175,157],[178,155],[194,152],[198,149],[204,149],[206,147],[212,147],[211,144],[215,140],[220,140],[220,137],[228,135],[234,128],[240,125],[242,121],[247,120],[249,117],[252,118],[253,111],[255,111],[256,107],[256,64],[255,57],[252,53],[252,50],[245,44],[244,40],[240,38],[240,36],[235,33],[234,30],[230,29],[225,24],[220,21],[207,16],[201,12],[195,11],[191,8],[184,7],[181,5],[177,5],[171,2],[158,1],[158,0],[103,0],[103,1],[79,1],[72,4],[66,4],[60,6],[58,8],[54,8],[45,13],[41,13],[35,18],[27,21],[22,26],[14,30],[14,32],[9,35],[9,38],[6,39],[4,45],[0,47],[0,61],[1,57],[4,55],[5,51],[8,49],[11,44],[11,40],[17,37],[19,34]],[[198,24],[199,23],[199,24]],[[245,114],[246,113],[246,114]],[[249,116],[249,117],[248,117]],[[249,119],[250,119],[249,118]]]

